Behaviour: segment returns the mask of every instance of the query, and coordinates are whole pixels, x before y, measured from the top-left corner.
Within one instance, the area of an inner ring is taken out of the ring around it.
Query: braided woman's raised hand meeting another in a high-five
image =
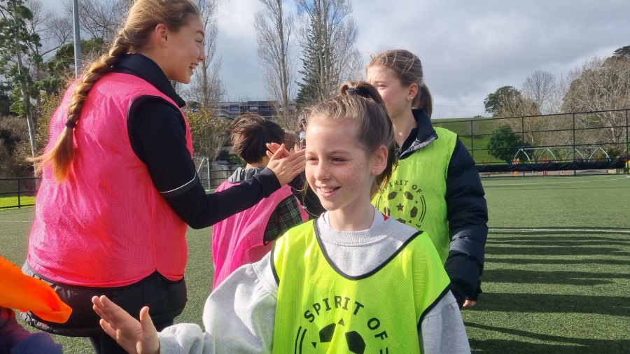
[[[270,157],[267,167],[274,172],[280,185],[286,185],[304,171],[306,167],[304,149],[300,150],[295,146],[295,150],[289,151],[284,144],[278,146],[275,143],[268,144],[267,148],[269,148],[267,155]]]

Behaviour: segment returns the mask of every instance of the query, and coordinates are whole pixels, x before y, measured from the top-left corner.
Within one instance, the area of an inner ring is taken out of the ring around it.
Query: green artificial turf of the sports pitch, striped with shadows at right
[[[630,176],[486,178],[484,293],[463,310],[474,353],[629,353]],[[33,208],[0,211],[0,255],[22,264]],[[210,229],[188,231],[188,305],[201,324]],[[87,340],[57,337],[65,353]]]

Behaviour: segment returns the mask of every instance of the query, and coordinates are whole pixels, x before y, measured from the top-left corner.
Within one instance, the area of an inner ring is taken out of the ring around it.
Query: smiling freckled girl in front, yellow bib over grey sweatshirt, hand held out
[[[155,331],[106,297],[101,325],[132,353],[469,353],[428,234],[370,203],[395,165],[391,121],[367,83],[312,107],[306,176],[327,210],[290,229],[208,297],[204,327]]]

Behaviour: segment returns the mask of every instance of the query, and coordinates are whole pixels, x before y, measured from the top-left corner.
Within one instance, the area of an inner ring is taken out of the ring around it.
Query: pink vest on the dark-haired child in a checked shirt
[[[226,180],[218,186],[216,192],[238,184]],[[291,195],[291,188],[283,185],[255,206],[232,215],[212,227],[213,290],[232,274],[232,271],[243,264],[258,262],[271,250],[272,242],[266,245],[263,242],[265,228],[278,204]],[[302,221],[309,219],[302,206],[300,214]]]

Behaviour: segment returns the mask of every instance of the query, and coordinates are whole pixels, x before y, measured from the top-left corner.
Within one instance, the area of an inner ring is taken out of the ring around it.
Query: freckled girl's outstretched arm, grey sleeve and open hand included
[[[148,308],[140,321],[106,297],[94,297],[101,326],[130,353],[271,353],[277,285],[269,253],[245,264],[219,285],[206,300],[204,327],[179,323],[157,333]]]

